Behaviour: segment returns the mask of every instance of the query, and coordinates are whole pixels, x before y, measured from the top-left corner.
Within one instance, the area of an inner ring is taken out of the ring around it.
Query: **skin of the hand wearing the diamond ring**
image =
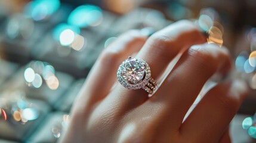
[[[247,94],[239,80],[218,83],[183,122],[206,81],[215,73],[227,74],[231,67],[226,48],[205,42],[187,20],[149,38],[139,30],[119,36],[91,69],[60,142],[230,142],[229,123]],[[166,74],[152,97],[117,82],[119,65],[136,52],[159,83]],[[178,54],[174,68],[164,72]]]

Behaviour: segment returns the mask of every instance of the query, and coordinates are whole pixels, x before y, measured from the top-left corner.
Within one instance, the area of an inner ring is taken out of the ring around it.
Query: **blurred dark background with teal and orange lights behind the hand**
[[[56,142],[100,52],[129,29],[149,35],[189,19],[227,46],[230,78],[250,87],[230,124],[256,142],[256,1],[0,0],[0,142]]]

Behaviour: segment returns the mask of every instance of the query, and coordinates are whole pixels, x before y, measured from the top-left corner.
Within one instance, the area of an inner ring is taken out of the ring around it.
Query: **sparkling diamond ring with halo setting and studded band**
[[[128,57],[118,68],[118,81],[128,89],[144,89],[147,93],[153,94],[156,80],[151,77],[149,64],[139,58]]]

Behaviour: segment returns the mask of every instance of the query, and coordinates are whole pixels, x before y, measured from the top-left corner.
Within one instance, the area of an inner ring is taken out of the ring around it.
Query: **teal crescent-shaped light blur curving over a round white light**
[[[61,23],[61,24],[58,24],[58,26],[56,26],[56,27],[53,29],[53,38],[54,38],[56,41],[59,41],[59,40],[60,40],[60,34],[61,34],[61,32],[63,32],[64,30],[67,30],[67,29],[72,30],[72,31],[75,32],[76,34],[80,34],[80,29],[79,29],[79,27],[77,27],[77,26],[72,26],[72,25],[65,24],[65,23]]]

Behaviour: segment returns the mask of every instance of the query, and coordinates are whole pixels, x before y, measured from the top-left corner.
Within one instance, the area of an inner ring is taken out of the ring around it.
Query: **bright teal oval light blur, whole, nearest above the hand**
[[[99,7],[94,5],[81,5],[70,13],[67,23],[83,28],[93,26],[102,17],[102,10]]]

